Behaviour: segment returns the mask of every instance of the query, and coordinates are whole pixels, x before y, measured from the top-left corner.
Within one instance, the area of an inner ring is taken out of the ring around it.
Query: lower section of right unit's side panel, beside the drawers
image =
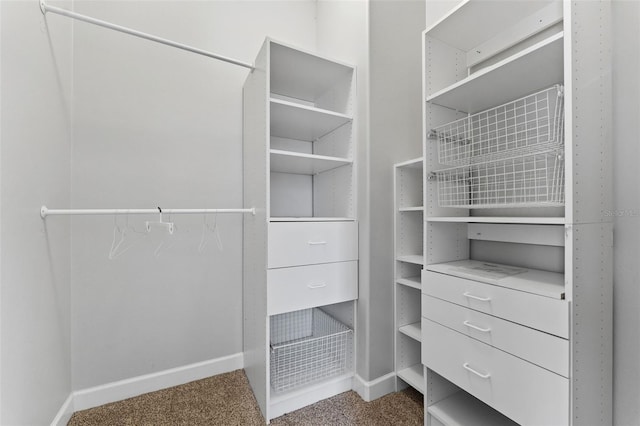
[[[570,238],[574,253],[570,424],[613,424],[613,226],[573,225]]]

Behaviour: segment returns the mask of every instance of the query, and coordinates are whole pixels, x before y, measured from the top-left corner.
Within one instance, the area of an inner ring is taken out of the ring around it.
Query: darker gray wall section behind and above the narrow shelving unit
[[[370,3],[368,372],[393,371],[393,164],[422,155],[425,2]]]

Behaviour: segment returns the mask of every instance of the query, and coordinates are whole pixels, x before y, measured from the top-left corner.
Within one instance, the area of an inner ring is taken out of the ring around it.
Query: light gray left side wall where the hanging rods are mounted
[[[60,4],[57,2],[56,4]],[[71,23],[0,2],[0,424],[48,424],[71,391]]]

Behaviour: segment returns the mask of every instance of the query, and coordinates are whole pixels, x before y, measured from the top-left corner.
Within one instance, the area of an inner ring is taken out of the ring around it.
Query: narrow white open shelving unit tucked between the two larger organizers
[[[395,200],[395,370],[396,388],[424,393],[420,343],[420,271],[424,265],[422,231],[423,158],[394,166]]]

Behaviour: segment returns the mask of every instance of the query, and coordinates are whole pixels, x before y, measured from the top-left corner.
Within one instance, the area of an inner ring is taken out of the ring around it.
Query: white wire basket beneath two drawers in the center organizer
[[[284,392],[345,373],[353,331],[318,308],[274,315],[271,386]]]

